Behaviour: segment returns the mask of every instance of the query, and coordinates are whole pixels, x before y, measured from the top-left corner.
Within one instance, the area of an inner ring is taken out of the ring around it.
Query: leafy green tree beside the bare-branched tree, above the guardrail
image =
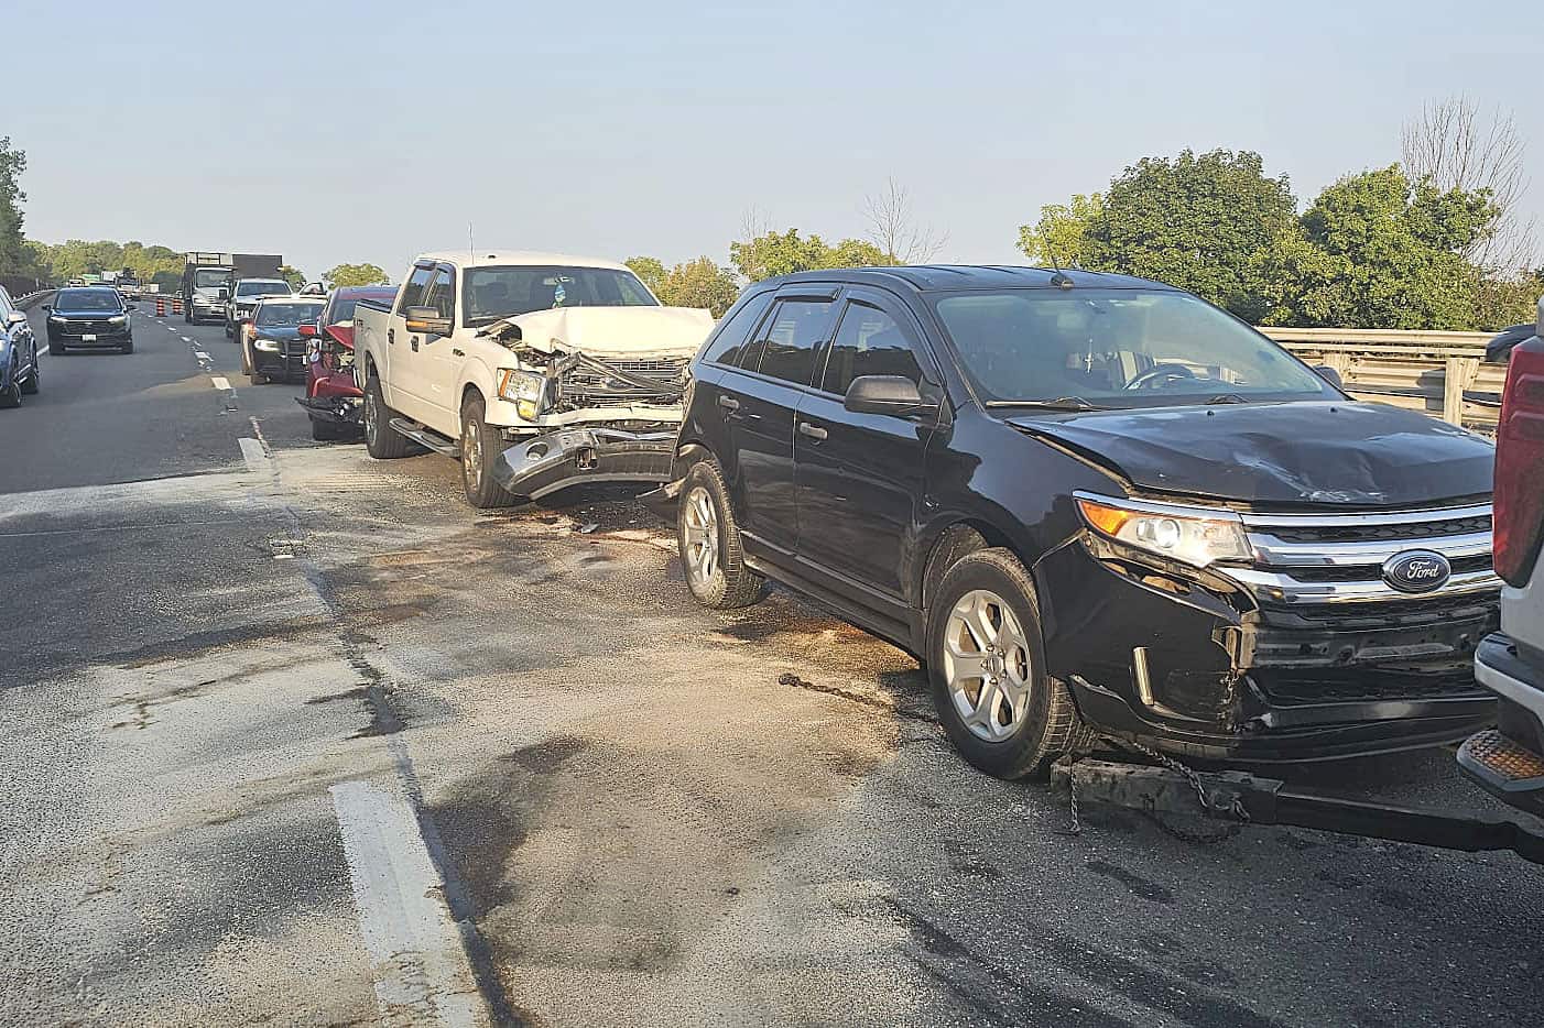
[[[1272,324],[1479,329],[1482,276],[1465,252],[1499,208],[1488,190],[1411,184],[1396,164],[1325,188],[1258,261]]]

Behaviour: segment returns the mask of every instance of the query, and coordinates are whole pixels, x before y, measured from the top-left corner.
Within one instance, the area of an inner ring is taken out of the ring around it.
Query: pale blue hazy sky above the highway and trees
[[[727,261],[747,208],[862,235],[894,176],[942,259],[1143,156],[1258,150],[1306,204],[1428,99],[1502,105],[1544,224],[1536,3],[11,0],[29,238]]]

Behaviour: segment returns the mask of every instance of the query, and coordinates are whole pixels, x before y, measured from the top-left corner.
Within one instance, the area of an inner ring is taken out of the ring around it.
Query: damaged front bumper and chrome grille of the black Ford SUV
[[[1241,559],[1195,566],[1090,525],[1036,563],[1048,670],[1089,722],[1177,755],[1275,763],[1436,746],[1493,721],[1473,675],[1499,621],[1488,503],[1220,514],[1238,522]],[[1441,556],[1444,580],[1391,580],[1411,554]]]

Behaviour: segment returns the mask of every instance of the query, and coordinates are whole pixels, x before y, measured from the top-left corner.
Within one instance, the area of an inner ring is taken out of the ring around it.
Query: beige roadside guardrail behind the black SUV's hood
[[[1346,392],[1420,411],[1493,435],[1505,364],[1487,364],[1488,332],[1271,329],[1261,332],[1309,364],[1340,372]]]

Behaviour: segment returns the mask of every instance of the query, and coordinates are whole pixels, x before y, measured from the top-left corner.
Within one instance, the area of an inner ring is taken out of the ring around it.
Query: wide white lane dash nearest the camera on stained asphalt
[[[386,1023],[483,1022],[482,999],[445,906],[445,883],[405,798],[364,781],[332,787],[360,935]]]

